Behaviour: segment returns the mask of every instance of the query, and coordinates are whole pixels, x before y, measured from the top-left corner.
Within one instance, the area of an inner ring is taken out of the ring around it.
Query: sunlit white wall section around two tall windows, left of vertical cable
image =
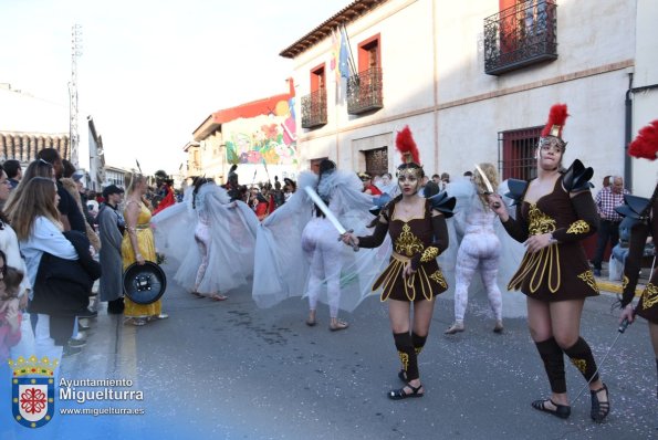
[[[345,99],[346,80],[336,91],[335,74],[330,69],[331,39],[294,60],[297,129],[302,167],[311,159],[330,157],[338,167],[363,170],[361,149],[388,147],[389,169],[399,165],[393,139],[395,132],[409,124],[421,150],[422,160],[434,168],[434,123],[431,111],[416,117],[419,108],[431,108],[434,59],[431,56],[431,1],[389,1],[347,25],[354,61],[358,64],[358,44],[380,35],[379,50],[384,82],[384,108],[369,115],[348,115]],[[429,48],[428,48],[429,44]],[[301,128],[301,97],[309,94],[311,70],[324,63],[327,90],[327,124],[307,130]]]

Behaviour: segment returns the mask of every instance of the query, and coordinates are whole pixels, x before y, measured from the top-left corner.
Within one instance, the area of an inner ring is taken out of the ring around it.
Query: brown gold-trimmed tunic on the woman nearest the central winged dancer
[[[448,283],[439,269],[437,256],[448,247],[448,232],[443,216],[431,216],[431,205],[425,203],[425,216],[403,221],[395,218],[395,206],[390,203],[383,216],[388,224],[379,222],[370,237],[359,237],[362,248],[375,248],[384,240],[386,229],[393,242],[393,253],[388,266],[373,284],[373,291],[382,287],[382,301],[432,300],[448,290]],[[437,228],[434,223],[442,224]],[[436,237],[436,234],[446,237]],[[377,237],[380,235],[380,237]],[[443,243],[441,245],[437,243]],[[407,264],[415,260],[417,271],[408,279],[403,279]]]

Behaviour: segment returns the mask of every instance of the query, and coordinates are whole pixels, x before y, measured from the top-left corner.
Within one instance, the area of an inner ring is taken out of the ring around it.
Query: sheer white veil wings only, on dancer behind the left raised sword
[[[302,250],[302,232],[314,210],[313,201],[304,191],[306,186],[317,186],[317,177],[310,171],[300,175],[299,190],[259,229],[252,293],[260,307],[270,307],[306,292],[309,263]],[[323,175],[317,188],[321,197],[331,199],[330,208],[341,224],[353,229],[356,235],[369,234],[366,227],[374,219],[368,212],[373,198],[363,193],[362,188],[363,184],[354,172],[340,170]],[[341,308],[354,311],[370,293],[373,281],[388,263],[389,253],[388,238],[378,249],[354,252],[347,245],[342,248]],[[322,285],[325,286],[326,282],[323,281]],[[325,289],[320,301],[327,302]]]

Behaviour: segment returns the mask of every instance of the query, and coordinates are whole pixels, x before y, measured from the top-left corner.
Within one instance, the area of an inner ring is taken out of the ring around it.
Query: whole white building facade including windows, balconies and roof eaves
[[[281,53],[293,59],[302,97],[302,166],[328,157],[393,171],[395,132],[408,124],[426,174],[490,161],[503,178],[530,178],[539,130],[551,105],[565,103],[564,165],[592,166],[597,187],[633,176],[634,192],[649,196],[655,164],[625,163],[629,133],[658,117],[656,22],[650,0],[354,1]],[[332,30],[341,23],[355,69],[337,86]]]

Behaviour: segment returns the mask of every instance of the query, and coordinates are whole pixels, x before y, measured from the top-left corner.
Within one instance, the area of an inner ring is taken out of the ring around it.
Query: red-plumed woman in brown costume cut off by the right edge
[[[637,138],[628,147],[628,154],[634,157],[656,160],[658,155],[658,119],[639,132]],[[651,336],[651,345],[656,355],[656,369],[658,370],[658,269],[651,273],[635,310],[631,304],[647,237],[651,234],[654,243],[658,239],[658,185],[656,185],[651,199],[637,211],[638,222],[630,230],[628,258],[624,265],[624,296],[622,298],[620,319],[626,318],[631,323],[635,315],[638,315],[649,322],[649,335]]]

